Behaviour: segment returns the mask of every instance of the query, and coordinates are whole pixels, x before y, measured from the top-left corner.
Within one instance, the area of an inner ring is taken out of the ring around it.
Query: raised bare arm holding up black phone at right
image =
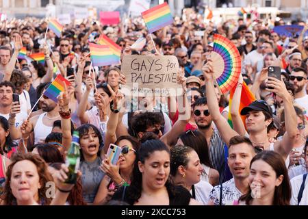
[[[292,103],[292,96],[287,92],[285,88],[285,83],[274,77],[268,77],[268,82],[266,83],[266,90],[269,92],[274,92],[281,99],[283,99],[283,106],[285,108],[285,134],[280,142],[274,144],[274,150],[280,153],[285,159],[287,155],[293,149],[296,140],[297,131],[297,120],[296,112]],[[269,89],[271,87],[273,89]]]

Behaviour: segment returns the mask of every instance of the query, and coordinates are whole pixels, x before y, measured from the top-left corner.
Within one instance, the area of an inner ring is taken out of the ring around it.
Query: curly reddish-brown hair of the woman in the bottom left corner
[[[12,179],[12,169],[14,168],[15,164],[18,162],[21,162],[23,160],[28,160],[29,162],[32,162],[36,165],[36,168],[38,170],[38,175],[40,177],[40,184],[42,185],[42,188],[38,189],[38,203],[41,203],[42,205],[49,205],[51,203],[51,198],[47,198],[47,187],[45,186],[47,182],[53,181],[53,177],[51,177],[51,174],[48,171],[47,164],[44,162],[44,159],[42,159],[39,155],[36,155],[34,153],[15,153],[12,155],[12,164],[8,166],[8,170],[6,171],[6,181],[5,181],[5,187],[4,187],[4,203],[5,205],[17,205],[16,198],[12,194],[12,189],[10,186],[10,181]]]

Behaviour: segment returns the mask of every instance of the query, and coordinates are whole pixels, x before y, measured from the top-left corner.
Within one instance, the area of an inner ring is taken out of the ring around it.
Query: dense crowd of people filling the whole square
[[[60,38],[45,19],[1,22],[1,205],[308,205],[308,25],[292,21],[303,26],[292,37],[272,30],[285,24],[238,18],[217,25],[184,10],[152,41],[140,18],[73,22]],[[121,64],[91,65],[89,43],[101,34],[122,48],[121,60],[175,55],[183,103],[146,96],[129,107],[143,108],[124,112]],[[242,57],[231,107],[214,77],[214,34]],[[140,37],[146,44],[132,49]],[[23,47],[44,53],[44,64],[18,58]],[[269,66],[281,69],[281,79],[268,77]],[[55,102],[44,91],[57,75],[70,86]],[[239,110],[244,83],[257,100]],[[69,184],[73,131],[81,157]],[[110,144],[122,149],[116,164],[105,156]]]

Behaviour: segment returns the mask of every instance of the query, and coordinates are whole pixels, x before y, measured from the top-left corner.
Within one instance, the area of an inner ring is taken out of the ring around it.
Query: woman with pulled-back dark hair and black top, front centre
[[[168,147],[160,140],[148,140],[137,152],[131,184],[117,190],[113,199],[125,201],[129,205],[199,204],[188,190],[172,183],[169,173]]]

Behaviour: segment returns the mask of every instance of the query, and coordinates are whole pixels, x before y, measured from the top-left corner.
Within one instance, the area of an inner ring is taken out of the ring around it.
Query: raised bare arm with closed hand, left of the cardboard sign
[[[92,88],[94,88],[94,84],[92,78],[88,76],[86,79],[86,92],[84,92],[84,95],[82,96],[77,108],[77,116],[80,119],[81,124],[88,123],[89,121],[89,116],[86,114],[86,108],[88,105],[89,94]]]

